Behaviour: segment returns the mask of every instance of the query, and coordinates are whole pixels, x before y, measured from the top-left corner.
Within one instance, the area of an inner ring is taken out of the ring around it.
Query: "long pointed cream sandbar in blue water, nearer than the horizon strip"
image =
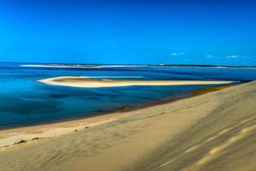
[[[93,77],[86,76],[63,76],[53,77],[43,80],[38,80],[47,85],[63,85],[73,87],[116,87],[130,85],[221,85],[230,84],[234,81],[219,81],[219,80],[110,80],[105,77],[104,80],[92,80]],[[94,77],[95,78],[95,77]],[[102,78],[102,77],[98,77]]]

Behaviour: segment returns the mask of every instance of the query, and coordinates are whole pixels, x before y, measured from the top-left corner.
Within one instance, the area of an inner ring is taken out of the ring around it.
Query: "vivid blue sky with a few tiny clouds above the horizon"
[[[0,0],[0,61],[256,65],[256,1]]]

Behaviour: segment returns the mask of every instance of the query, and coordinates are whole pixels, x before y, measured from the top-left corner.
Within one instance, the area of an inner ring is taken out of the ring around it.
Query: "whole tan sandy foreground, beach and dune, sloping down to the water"
[[[3,130],[2,146],[39,139],[3,148],[0,170],[255,170],[255,103],[251,82],[145,109]]]

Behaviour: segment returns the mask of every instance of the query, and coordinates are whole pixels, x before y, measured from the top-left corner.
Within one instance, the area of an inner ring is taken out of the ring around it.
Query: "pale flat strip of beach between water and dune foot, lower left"
[[[123,115],[124,116],[124,115]],[[74,121],[63,121],[51,124],[44,124],[33,127],[18,127],[0,131],[0,150],[19,144],[21,140],[32,141],[33,139],[56,138],[68,133],[73,133],[104,124],[108,121],[115,121],[120,115],[98,115],[92,118],[79,119]]]

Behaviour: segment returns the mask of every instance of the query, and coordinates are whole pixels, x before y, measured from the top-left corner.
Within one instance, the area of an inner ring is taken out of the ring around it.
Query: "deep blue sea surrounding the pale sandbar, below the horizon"
[[[103,114],[123,105],[136,107],[212,86],[74,88],[36,81],[49,77],[84,75],[141,77],[123,78],[125,80],[256,80],[255,68],[26,68],[20,65],[0,63],[0,128]]]

